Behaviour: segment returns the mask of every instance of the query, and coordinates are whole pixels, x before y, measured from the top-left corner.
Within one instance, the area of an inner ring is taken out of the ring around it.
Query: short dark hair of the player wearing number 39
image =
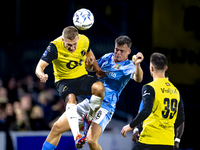
[[[150,57],[150,62],[156,70],[165,70],[167,66],[167,58],[161,53],[153,53]]]

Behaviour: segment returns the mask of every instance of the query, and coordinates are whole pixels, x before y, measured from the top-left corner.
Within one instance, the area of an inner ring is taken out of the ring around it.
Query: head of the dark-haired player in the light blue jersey
[[[128,36],[119,36],[115,40],[114,59],[116,62],[124,61],[131,53],[131,39]]]

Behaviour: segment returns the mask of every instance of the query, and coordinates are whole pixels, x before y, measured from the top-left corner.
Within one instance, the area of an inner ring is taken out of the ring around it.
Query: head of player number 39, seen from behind
[[[161,53],[153,53],[150,57],[150,72],[163,73],[167,70],[167,58]]]

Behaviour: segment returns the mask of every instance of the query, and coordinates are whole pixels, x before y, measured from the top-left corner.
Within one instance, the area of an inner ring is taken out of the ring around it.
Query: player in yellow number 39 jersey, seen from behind
[[[154,53],[150,58],[150,72],[154,81],[142,88],[143,109],[124,126],[121,134],[131,131],[143,122],[139,142],[132,150],[172,150],[174,146],[174,124],[184,120],[183,105],[178,89],[165,78],[167,59]]]

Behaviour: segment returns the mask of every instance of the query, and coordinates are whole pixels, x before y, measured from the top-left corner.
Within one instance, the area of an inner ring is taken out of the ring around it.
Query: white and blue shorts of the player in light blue
[[[90,102],[86,98],[84,101],[77,105],[77,113],[79,115],[79,127],[83,126],[82,117],[85,114],[88,114],[90,110]],[[113,113],[109,112],[108,110],[100,107],[96,116],[93,118],[92,122],[95,122],[101,126],[102,132],[105,130],[106,126],[110,122]]]

